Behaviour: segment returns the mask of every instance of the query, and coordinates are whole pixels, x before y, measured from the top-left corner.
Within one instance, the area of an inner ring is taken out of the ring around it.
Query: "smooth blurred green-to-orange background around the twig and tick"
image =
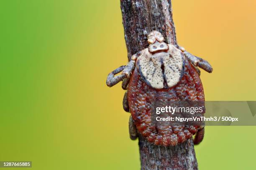
[[[173,0],[179,44],[214,67],[202,71],[206,100],[256,100],[255,9],[253,0]],[[1,0],[0,22],[0,160],[139,169],[124,91],[105,85],[127,63],[119,0]],[[206,127],[200,170],[255,169],[255,134]]]

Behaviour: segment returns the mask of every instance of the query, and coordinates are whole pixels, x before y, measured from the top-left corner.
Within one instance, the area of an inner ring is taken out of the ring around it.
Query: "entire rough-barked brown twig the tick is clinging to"
[[[147,35],[153,30],[162,33],[168,44],[177,45],[172,19],[171,0],[120,0],[128,60],[148,47]],[[197,170],[192,139],[174,146],[150,144],[139,135],[142,170]]]

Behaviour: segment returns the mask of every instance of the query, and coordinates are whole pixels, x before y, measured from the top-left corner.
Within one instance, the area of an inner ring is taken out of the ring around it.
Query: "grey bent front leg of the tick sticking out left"
[[[130,62],[128,62],[126,66],[121,66],[115,69],[113,72],[110,72],[107,78],[108,87],[112,87],[113,85],[116,85],[118,82],[122,81],[123,79],[130,77],[130,74],[134,68],[134,65],[135,65],[135,61],[131,60]],[[121,71],[123,72],[120,75],[115,76]]]

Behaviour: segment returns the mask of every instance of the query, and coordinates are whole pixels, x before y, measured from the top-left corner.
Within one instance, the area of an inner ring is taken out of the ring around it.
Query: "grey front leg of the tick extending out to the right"
[[[192,55],[191,53],[187,52],[184,47],[179,47],[179,50],[181,50],[184,55],[187,57],[187,59],[192,62],[193,65],[195,65],[196,67],[200,67],[203,70],[207,71],[207,72],[212,72],[212,66],[210,65],[209,62],[207,62],[206,60],[197,57],[195,55]]]

